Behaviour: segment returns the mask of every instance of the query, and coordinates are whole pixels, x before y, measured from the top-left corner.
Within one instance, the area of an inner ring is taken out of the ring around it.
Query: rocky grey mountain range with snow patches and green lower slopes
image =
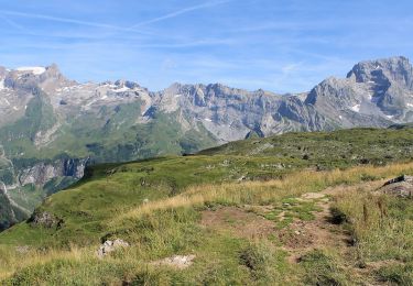
[[[219,84],[174,84],[152,92],[123,80],[78,84],[56,65],[0,68],[1,226],[80,178],[87,162],[195,153],[293,131],[410,122],[412,82],[405,57],[359,63],[346,78],[328,78],[300,95]]]

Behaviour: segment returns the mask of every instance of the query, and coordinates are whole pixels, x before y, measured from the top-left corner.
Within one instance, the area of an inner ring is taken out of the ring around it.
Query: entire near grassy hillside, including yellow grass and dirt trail
[[[0,233],[4,284],[413,283],[413,130],[289,133],[87,169]],[[50,220],[42,223],[36,218]],[[130,246],[99,258],[100,243]],[[194,255],[180,268],[160,261]]]

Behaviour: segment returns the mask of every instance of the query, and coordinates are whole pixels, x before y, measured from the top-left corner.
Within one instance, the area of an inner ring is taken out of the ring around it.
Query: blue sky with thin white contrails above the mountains
[[[151,90],[309,90],[362,59],[413,59],[412,1],[0,0],[0,65]]]

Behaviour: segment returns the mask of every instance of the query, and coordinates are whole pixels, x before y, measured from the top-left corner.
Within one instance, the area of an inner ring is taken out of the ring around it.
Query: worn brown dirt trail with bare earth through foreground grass
[[[319,193],[303,194],[282,205],[244,205],[206,210],[203,211],[202,224],[215,231],[229,231],[247,239],[278,237],[281,249],[287,253],[287,262],[291,264],[300,263],[301,257],[313,250],[334,250],[343,258],[343,267],[354,275],[355,280],[362,282],[363,285],[377,285],[370,273],[382,265],[393,265],[396,262],[384,261],[358,267],[351,235],[343,226],[332,222],[330,208],[334,198],[347,196],[346,193],[355,189],[373,191],[382,186],[383,182],[329,187]],[[298,219],[300,216],[292,216],[294,211],[298,211],[295,215],[300,215],[300,207],[305,211],[305,207],[308,206],[313,206],[309,212],[314,217]]]

